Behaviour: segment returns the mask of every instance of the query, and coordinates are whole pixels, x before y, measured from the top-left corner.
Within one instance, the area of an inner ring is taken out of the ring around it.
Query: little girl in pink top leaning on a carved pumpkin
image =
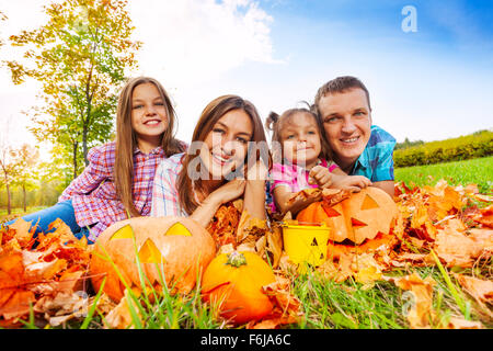
[[[271,210],[291,212],[293,216],[320,199],[288,204],[297,192],[308,188],[336,188],[359,191],[371,182],[362,176],[347,176],[324,158],[317,116],[308,109],[291,109],[280,116],[272,112],[266,121],[273,132],[274,165],[271,171]]]

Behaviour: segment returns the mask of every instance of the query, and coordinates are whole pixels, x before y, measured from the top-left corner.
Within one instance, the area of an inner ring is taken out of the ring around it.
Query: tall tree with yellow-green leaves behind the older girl
[[[71,155],[73,178],[88,165],[89,148],[108,139],[117,91],[137,67],[141,43],[129,38],[134,27],[126,5],[126,0],[51,3],[44,7],[48,23],[9,38],[25,48],[24,63],[4,61],[12,81],[33,78],[43,87],[44,104],[33,109],[31,131]]]

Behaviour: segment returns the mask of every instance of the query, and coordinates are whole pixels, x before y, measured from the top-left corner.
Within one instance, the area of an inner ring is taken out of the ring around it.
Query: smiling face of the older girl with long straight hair
[[[164,100],[153,83],[135,87],[131,94],[131,127],[141,151],[149,152],[160,145],[168,127],[168,114]]]

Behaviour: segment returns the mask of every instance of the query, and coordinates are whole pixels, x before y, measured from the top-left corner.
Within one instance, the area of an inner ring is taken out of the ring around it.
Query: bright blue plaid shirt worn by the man
[[[356,160],[349,176],[365,176],[372,182],[393,180],[393,148],[395,139],[372,125],[365,150]]]

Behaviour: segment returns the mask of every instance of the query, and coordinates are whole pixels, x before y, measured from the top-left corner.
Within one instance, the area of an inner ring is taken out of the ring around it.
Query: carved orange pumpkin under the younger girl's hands
[[[297,219],[300,224],[326,223],[331,227],[330,240],[341,242],[348,239],[360,245],[379,233],[388,235],[397,213],[397,205],[389,194],[369,186],[334,206],[312,203],[298,214]]]

